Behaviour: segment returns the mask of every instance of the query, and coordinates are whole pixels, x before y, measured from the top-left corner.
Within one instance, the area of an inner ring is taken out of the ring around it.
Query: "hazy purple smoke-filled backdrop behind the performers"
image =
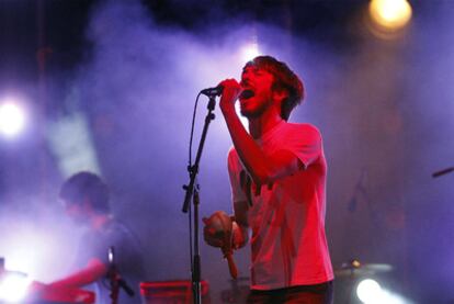
[[[411,4],[410,24],[383,38],[360,0],[0,1],[0,98],[21,97],[30,119],[21,136],[0,138],[0,256],[38,281],[63,275],[80,230],[58,188],[91,169],[143,240],[149,281],[190,279],[181,185],[194,99],[238,79],[239,49],[256,41],[305,81],[291,121],[324,134],[334,268],[388,263],[390,290],[452,303],[454,174],[431,173],[454,164],[454,2]],[[216,114],[200,169],[203,216],[230,211],[231,143]],[[201,250],[217,303],[230,289],[227,266],[219,250]],[[248,250],[236,259],[248,277]]]

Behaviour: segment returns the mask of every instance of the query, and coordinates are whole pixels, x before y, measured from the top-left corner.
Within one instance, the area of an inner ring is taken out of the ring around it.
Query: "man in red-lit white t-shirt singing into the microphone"
[[[245,246],[252,232],[248,303],[332,303],[322,139],[315,126],[287,122],[304,97],[302,81],[286,64],[259,56],[246,64],[240,83],[219,85],[234,143],[234,248]],[[249,132],[235,111],[237,100]]]

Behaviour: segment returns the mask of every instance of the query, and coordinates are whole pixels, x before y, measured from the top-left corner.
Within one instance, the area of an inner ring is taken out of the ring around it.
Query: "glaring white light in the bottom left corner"
[[[24,273],[3,272],[0,277],[0,302],[20,303],[27,294],[31,282]]]

